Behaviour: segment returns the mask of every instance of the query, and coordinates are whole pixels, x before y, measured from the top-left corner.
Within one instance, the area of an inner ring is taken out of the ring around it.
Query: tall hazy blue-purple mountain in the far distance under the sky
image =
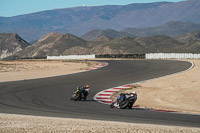
[[[18,33],[28,42],[35,42],[51,32],[82,36],[95,29],[113,29],[134,35],[137,29],[132,28],[156,27],[170,21],[200,23],[199,12],[199,0],[74,7],[0,17],[0,32]],[[142,36],[149,36],[149,32],[155,35],[151,28],[143,30],[139,30]]]

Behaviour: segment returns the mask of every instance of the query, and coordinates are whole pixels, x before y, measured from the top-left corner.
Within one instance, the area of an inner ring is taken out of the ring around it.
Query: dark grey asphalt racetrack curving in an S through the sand
[[[110,109],[93,100],[101,90],[180,72],[191,63],[166,60],[106,62],[108,66],[93,71],[0,83],[0,113],[200,127],[200,115]],[[71,101],[76,86],[85,84],[91,85],[88,100]]]

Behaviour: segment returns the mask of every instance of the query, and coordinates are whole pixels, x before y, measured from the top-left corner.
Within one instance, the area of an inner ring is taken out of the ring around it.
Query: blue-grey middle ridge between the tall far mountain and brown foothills
[[[191,22],[179,22],[172,21],[162,26],[148,27],[148,28],[126,28],[122,31],[116,31],[113,29],[106,30],[92,30],[82,36],[85,40],[95,40],[99,36],[107,36],[110,38],[118,37],[150,37],[155,35],[167,35],[170,37],[177,37],[184,35],[188,32],[200,30],[200,24],[194,24]]]

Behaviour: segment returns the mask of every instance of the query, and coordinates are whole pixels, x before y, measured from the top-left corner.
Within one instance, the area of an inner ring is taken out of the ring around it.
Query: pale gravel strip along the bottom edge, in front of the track
[[[199,133],[200,128],[0,114],[1,133]]]

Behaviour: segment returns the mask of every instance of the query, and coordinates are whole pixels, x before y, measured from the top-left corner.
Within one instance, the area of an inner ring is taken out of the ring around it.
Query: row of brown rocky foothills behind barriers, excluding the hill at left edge
[[[22,42],[24,43],[24,41]],[[83,40],[72,34],[53,32],[33,45],[25,45],[24,49],[14,52],[8,59],[45,58],[46,56],[74,54],[144,54],[152,52],[199,53],[200,31],[190,32],[177,38],[166,35],[110,38],[102,35],[92,41]]]

